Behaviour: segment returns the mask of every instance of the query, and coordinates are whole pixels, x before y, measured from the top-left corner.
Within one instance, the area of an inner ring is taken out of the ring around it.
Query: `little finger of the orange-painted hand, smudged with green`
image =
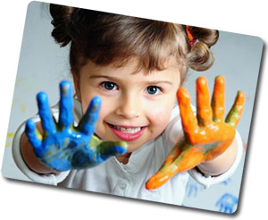
[[[243,112],[243,107],[245,103],[245,95],[242,91],[238,92],[233,106],[230,109],[229,114],[226,117],[225,122],[233,127],[236,127],[239,123],[240,117]]]

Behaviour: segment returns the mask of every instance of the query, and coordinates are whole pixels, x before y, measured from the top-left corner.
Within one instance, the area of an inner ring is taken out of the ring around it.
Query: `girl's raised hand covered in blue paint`
[[[25,133],[39,161],[56,171],[90,168],[112,156],[124,154],[127,143],[99,140],[95,135],[101,99],[91,100],[79,125],[73,125],[71,83],[60,84],[61,100],[58,123],[51,114],[46,93],[38,93],[38,114],[43,134],[32,121],[26,123]]]

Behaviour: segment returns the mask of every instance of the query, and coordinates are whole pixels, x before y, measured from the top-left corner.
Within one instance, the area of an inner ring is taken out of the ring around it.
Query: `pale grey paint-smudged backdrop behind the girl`
[[[4,176],[27,181],[27,178],[14,165],[11,155],[13,133],[22,121],[38,111],[35,96],[38,91],[45,90],[50,103],[54,104],[59,98],[58,82],[71,79],[68,65],[68,48],[59,48],[54,44],[50,33],[50,15],[46,5],[32,2],[29,4],[23,40],[21,45],[20,63],[13,95],[8,132],[4,150],[2,171]],[[263,42],[260,38],[220,32],[220,39],[213,47],[215,63],[206,72],[190,71],[186,87],[195,100],[195,80],[199,76],[207,77],[211,90],[214,77],[222,74],[226,78],[226,109],[230,109],[237,90],[246,93],[246,105],[238,130],[245,143],[248,140],[250,123],[255,101],[255,89],[259,72]],[[197,196],[189,195],[185,206],[218,210],[215,202],[226,191],[239,197],[240,182],[243,172],[244,158],[237,173],[231,177],[227,185],[218,184],[209,190],[197,186]]]

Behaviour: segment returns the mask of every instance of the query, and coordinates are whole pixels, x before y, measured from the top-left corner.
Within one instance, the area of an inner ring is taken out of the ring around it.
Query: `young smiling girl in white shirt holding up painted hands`
[[[243,95],[225,123],[222,77],[212,106],[197,80],[197,117],[180,88],[188,67],[213,64],[217,30],[55,4],[50,12],[55,41],[71,44],[76,96],[63,81],[49,109],[39,93],[40,117],[16,132],[13,157],[30,180],[181,205],[189,174],[208,187],[234,173]]]

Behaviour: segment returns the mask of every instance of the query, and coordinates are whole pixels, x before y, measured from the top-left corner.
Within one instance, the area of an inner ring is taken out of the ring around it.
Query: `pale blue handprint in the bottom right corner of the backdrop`
[[[220,207],[219,211],[224,213],[233,213],[237,206],[239,199],[230,193],[225,193],[215,204]]]

